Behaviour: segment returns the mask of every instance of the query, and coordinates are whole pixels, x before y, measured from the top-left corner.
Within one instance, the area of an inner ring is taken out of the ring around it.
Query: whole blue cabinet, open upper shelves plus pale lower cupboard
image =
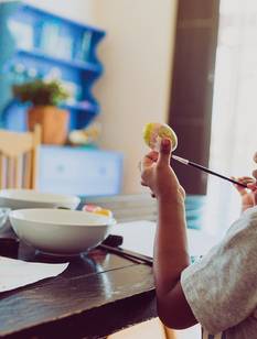
[[[92,88],[104,67],[97,46],[105,31],[43,11],[22,1],[0,3],[0,124],[26,130],[28,107],[12,100],[11,86],[33,78],[60,78],[72,91],[63,107],[69,130],[100,112]],[[41,147],[38,186],[43,192],[81,196],[120,193],[122,156],[69,146]]]

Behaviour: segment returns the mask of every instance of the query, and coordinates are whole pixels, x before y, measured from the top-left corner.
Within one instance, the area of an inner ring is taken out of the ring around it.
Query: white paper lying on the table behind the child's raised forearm
[[[153,256],[156,227],[156,222],[147,220],[122,222],[115,226],[111,233],[124,237],[121,248]],[[203,255],[218,241],[203,230],[188,229],[186,232],[190,255]]]

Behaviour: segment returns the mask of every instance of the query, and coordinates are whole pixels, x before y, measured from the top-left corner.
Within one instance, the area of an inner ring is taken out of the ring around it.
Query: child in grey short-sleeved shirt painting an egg
[[[242,195],[243,215],[223,241],[190,265],[186,244],[185,193],[170,166],[171,142],[141,162],[141,184],[158,201],[153,273],[158,314],[168,327],[183,329],[197,322],[203,338],[257,338],[257,185]],[[257,162],[257,154],[255,155]],[[257,178],[257,171],[253,173]],[[210,333],[210,335],[208,335]],[[214,337],[215,336],[215,337]]]

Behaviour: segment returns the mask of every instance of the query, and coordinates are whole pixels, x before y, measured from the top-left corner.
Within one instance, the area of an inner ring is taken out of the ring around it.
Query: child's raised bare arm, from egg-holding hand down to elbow
[[[153,273],[158,313],[172,328],[186,328],[196,319],[180,284],[181,272],[190,264],[185,233],[184,190],[170,167],[171,144],[164,140],[160,154],[150,152],[142,162],[142,185],[158,199]]]

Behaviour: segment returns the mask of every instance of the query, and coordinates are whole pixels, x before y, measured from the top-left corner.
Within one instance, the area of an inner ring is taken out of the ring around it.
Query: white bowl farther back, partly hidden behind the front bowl
[[[0,207],[24,208],[68,208],[75,209],[81,199],[76,196],[46,194],[33,189],[0,190]]]

